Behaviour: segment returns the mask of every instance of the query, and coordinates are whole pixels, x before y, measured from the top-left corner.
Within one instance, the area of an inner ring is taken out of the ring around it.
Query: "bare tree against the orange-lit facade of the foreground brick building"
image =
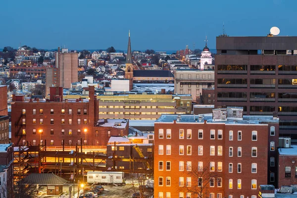
[[[222,184],[222,179],[220,174],[215,171],[214,164],[192,166],[192,164],[186,163],[185,166],[187,178],[185,178],[185,183],[180,182],[179,192],[191,193],[192,198],[211,198],[209,194],[210,187],[214,186],[216,182]]]

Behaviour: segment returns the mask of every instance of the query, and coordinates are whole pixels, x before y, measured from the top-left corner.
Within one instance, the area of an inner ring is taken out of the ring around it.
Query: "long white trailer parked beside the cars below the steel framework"
[[[125,184],[124,172],[99,172],[89,171],[87,173],[87,182],[89,184]]]

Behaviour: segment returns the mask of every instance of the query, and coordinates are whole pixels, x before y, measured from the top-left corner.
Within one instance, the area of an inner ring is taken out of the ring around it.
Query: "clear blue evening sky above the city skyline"
[[[215,49],[229,36],[296,36],[296,0],[0,0],[0,48]]]

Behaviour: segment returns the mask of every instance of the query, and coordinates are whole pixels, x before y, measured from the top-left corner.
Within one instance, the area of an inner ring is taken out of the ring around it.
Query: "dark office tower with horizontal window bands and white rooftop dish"
[[[280,118],[280,136],[297,139],[297,37],[216,38],[215,107]]]

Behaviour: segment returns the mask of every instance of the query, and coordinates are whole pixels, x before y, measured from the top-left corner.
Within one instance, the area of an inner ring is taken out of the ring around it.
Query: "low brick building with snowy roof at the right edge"
[[[297,184],[297,145],[291,145],[291,138],[280,138],[278,158],[272,165],[277,167],[278,186],[292,186]]]

